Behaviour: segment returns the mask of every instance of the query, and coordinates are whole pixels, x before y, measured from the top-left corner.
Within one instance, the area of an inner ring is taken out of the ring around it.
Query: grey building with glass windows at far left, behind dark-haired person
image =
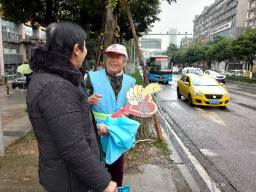
[[[30,23],[21,24],[0,18],[0,78],[8,76],[9,80],[21,77],[18,66],[29,63],[31,47],[44,45],[46,29],[33,28]]]

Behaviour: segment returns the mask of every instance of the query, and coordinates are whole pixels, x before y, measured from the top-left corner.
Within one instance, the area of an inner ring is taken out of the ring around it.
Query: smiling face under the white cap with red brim
[[[127,61],[124,60],[124,55],[111,52],[108,54],[107,67],[110,73],[119,73],[126,64]]]

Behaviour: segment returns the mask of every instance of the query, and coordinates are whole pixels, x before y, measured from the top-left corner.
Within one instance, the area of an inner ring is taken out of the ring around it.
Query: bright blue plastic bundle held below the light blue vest
[[[119,118],[108,117],[106,125],[109,135],[101,136],[101,142],[103,151],[106,153],[105,161],[111,165],[133,146],[140,123],[121,116]]]

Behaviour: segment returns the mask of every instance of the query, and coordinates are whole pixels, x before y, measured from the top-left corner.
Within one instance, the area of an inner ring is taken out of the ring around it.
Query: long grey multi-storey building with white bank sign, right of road
[[[245,30],[247,2],[248,0],[215,0],[210,6],[206,6],[193,20],[193,39],[201,37],[207,42],[217,35],[236,38]]]

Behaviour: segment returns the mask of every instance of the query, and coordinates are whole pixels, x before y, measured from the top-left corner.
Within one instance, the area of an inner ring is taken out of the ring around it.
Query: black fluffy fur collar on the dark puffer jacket
[[[53,73],[79,86],[83,75],[70,62],[59,54],[49,52],[44,46],[35,46],[31,51],[30,69],[36,73]]]

